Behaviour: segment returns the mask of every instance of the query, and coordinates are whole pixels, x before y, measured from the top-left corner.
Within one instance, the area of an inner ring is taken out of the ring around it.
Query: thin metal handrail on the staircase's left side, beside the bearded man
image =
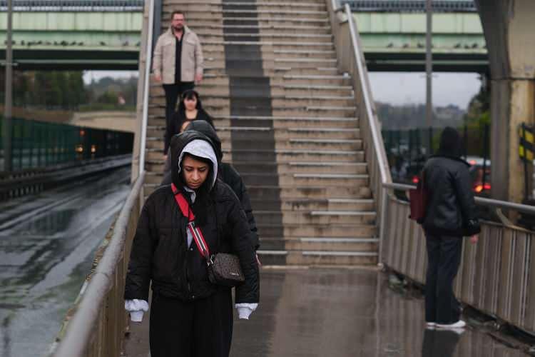
[[[145,57],[145,78],[143,79],[143,118],[141,124],[141,148],[139,153],[139,172],[145,171],[145,148],[147,144],[147,124],[148,124],[148,94],[151,84],[151,66],[152,66],[152,49],[153,49],[153,31],[154,31],[154,0],[149,0],[148,4],[148,35]]]

